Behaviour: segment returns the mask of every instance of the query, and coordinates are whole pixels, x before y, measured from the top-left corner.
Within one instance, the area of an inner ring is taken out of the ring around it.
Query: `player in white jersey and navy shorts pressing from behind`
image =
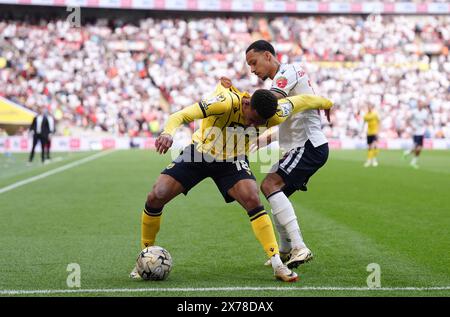
[[[271,91],[278,98],[297,94],[314,94],[306,72],[297,64],[281,64],[273,46],[264,40],[246,50],[251,72],[261,80],[272,79]],[[329,120],[329,113],[327,113]],[[275,226],[280,235],[280,256],[289,268],[296,268],[313,258],[303,241],[294,207],[289,196],[306,191],[309,178],[328,159],[328,141],[322,132],[317,110],[294,115],[279,126],[280,148],[284,153],[261,183],[261,191],[272,207]],[[271,138],[273,141],[274,138]],[[259,140],[267,144],[270,140]]]

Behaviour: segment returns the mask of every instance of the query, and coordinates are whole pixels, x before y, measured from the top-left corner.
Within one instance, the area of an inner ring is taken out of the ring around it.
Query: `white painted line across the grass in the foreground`
[[[0,290],[0,295],[81,294],[81,293],[144,293],[144,292],[235,292],[235,291],[446,291],[442,287],[210,287],[210,288],[104,288],[104,289],[47,289]]]

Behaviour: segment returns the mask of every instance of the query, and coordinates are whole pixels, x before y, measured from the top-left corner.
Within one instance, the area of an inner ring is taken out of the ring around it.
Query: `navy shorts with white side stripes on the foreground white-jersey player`
[[[275,171],[283,179],[283,192],[286,196],[295,191],[306,191],[309,178],[314,175],[328,160],[328,143],[314,147],[308,140],[305,146],[287,152],[278,162]]]

